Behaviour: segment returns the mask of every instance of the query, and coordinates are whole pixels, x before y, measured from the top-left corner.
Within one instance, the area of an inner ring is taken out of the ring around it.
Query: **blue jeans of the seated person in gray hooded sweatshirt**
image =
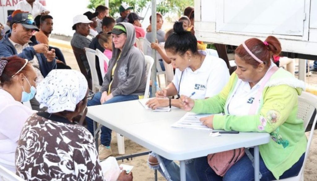
[[[87,106],[95,106],[100,105],[100,99],[101,99],[101,92],[98,92],[94,95],[92,100],[88,100]],[[138,95],[118,95],[114,96],[112,99],[107,100],[103,104],[110,104],[114,102],[122,102],[122,101],[128,101],[128,100],[136,100],[139,99]],[[94,123],[93,120],[86,117],[86,123],[87,123],[87,129],[88,131],[94,135]],[[101,127],[101,136],[100,136],[100,142],[102,145],[110,146],[111,142],[111,132],[112,130],[107,128],[106,126]]]

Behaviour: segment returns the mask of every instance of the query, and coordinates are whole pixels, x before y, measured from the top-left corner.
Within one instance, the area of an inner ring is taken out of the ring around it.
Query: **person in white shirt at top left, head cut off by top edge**
[[[36,17],[37,15],[47,15],[49,11],[39,2],[35,0],[23,0],[16,4],[16,10],[29,12]]]

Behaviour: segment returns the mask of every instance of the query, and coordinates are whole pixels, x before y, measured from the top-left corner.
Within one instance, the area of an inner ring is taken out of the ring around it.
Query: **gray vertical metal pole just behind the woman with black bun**
[[[152,18],[151,18],[151,23],[152,23],[152,43],[156,42],[156,0],[152,0]],[[155,86],[155,81],[156,81],[156,65],[157,65],[157,60],[156,60],[156,50],[152,49],[152,58],[154,59],[153,67],[152,67],[152,95],[155,96],[156,93],[156,86]]]

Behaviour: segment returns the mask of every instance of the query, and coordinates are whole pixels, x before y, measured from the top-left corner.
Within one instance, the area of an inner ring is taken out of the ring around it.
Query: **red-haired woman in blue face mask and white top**
[[[36,92],[36,72],[18,56],[0,59],[0,165],[15,172],[15,152],[24,122],[34,113],[21,102]]]

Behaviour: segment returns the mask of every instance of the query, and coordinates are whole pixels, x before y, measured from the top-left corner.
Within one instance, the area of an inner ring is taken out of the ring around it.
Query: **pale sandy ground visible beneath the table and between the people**
[[[72,50],[66,49],[66,48],[61,48],[62,52],[65,56],[67,64],[73,68],[77,69],[78,65],[76,62],[76,59],[74,57],[74,54]],[[312,61],[311,61],[312,63]],[[313,73],[312,76],[307,77],[306,82],[309,84],[316,85],[317,84],[317,74]],[[311,143],[311,148],[310,148],[310,153],[307,159],[307,163],[305,166],[305,172],[304,172],[304,178],[305,181],[316,181],[317,180],[317,138],[316,138],[316,133],[317,130],[314,131],[315,137],[313,138],[313,141]],[[309,132],[306,133],[308,137]],[[118,149],[117,149],[117,139],[116,139],[116,134],[113,133],[113,139],[111,142],[111,147],[113,151],[113,156],[118,157],[120,156],[118,154]],[[125,149],[126,149],[126,154],[133,154],[137,152],[145,152],[148,151],[146,148],[134,143],[133,141],[125,138]],[[148,156],[141,156],[137,158],[133,158],[133,160],[124,160],[123,163],[127,165],[133,165],[133,180],[134,181],[148,181],[148,180],[154,180],[154,171],[149,169],[147,166],[147,158]],[[120,165],[122,161],[118,161],[118,164]],[[161,174],[159,173],[158,175],[158,180],[163,181],[165,180]]]

